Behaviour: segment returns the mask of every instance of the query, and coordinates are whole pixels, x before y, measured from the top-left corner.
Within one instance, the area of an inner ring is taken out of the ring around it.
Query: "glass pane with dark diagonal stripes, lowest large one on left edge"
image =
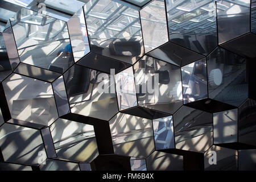
[[[38,165],[47,158],[39,130],[9,123],[0,127],[0,148],[6,162]]]

